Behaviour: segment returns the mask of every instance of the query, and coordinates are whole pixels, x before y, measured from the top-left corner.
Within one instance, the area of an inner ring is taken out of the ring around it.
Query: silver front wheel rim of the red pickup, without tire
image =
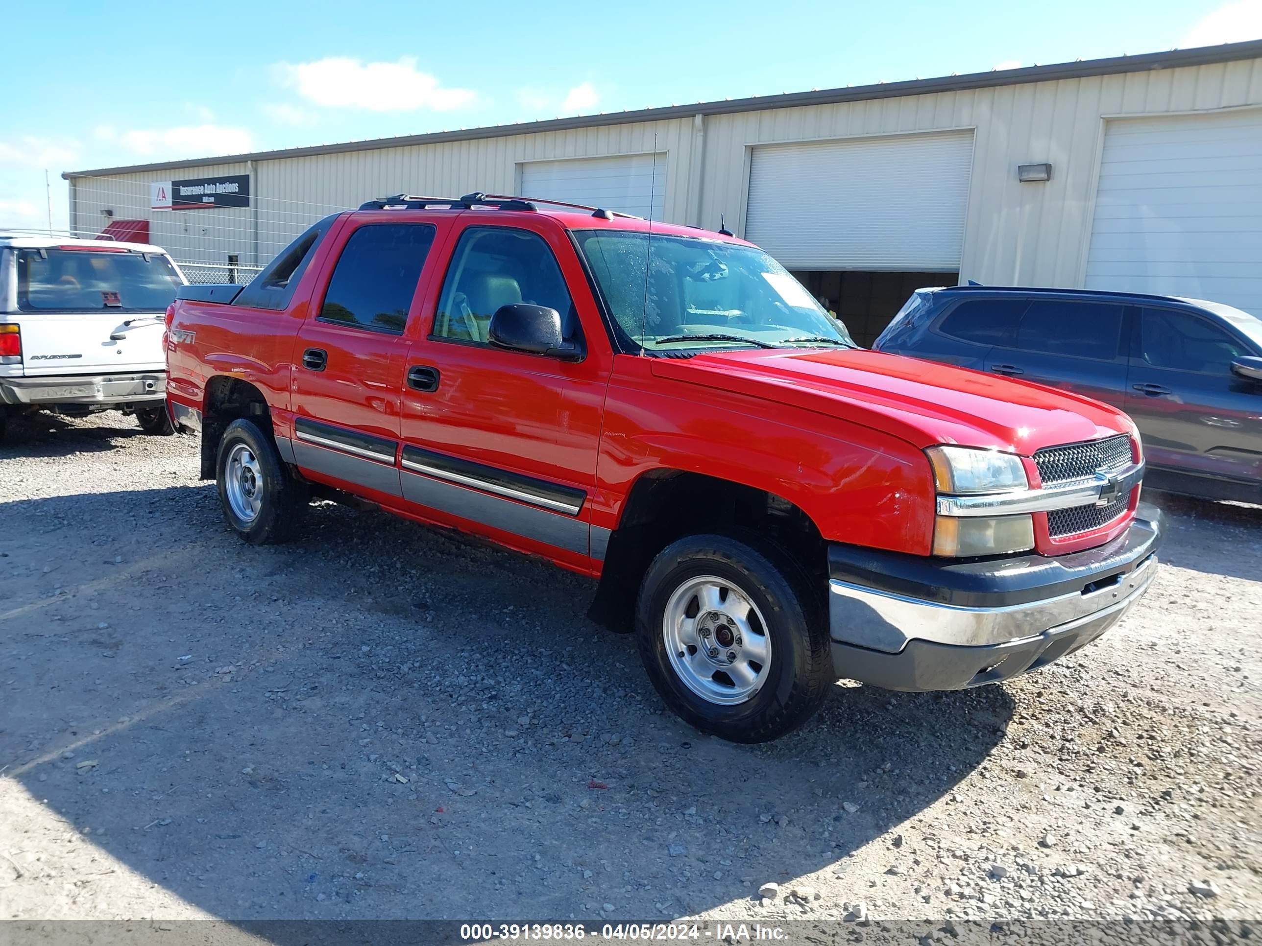
[[[767,681],[767,624],[748,595],[724,578],[700,575],[676,588],[661,632],[675,675],[707,703],[746,703]]]

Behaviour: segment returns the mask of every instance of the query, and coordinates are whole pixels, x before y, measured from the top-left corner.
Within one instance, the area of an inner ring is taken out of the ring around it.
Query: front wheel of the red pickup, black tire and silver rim
[[[640,658],[665,704],[703,733],[777,739],[810,719],[837,681],[815,600],[809,579],[776,546],[753,536],[688,536],[652,560],[640,585]]]

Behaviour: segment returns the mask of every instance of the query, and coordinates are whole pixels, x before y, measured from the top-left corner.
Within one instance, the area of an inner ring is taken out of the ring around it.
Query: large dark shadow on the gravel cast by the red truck
[[[211,486],[0,510],[20,917],[149,883],[235,921],[665,920],[822,870],[861,899],[852,855],[936,858],[899,826],[1013,713],[1001,687],[838,685],[732,745],[665,714],[634,639],[583,617],[592,583],[539,561],[333,506],[251,547]]]

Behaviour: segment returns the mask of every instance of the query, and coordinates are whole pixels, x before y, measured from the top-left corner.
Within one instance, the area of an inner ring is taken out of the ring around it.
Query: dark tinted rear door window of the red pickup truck
[[[429,223],[366,223],[351,233],[321,305],[321,322],[401,334],[434,242]]]

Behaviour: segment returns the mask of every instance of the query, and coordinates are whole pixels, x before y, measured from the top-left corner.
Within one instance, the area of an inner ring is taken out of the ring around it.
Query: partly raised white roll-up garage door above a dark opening
[[[800,270],[958,270],[973,132],[760,145],[745,236]]]

